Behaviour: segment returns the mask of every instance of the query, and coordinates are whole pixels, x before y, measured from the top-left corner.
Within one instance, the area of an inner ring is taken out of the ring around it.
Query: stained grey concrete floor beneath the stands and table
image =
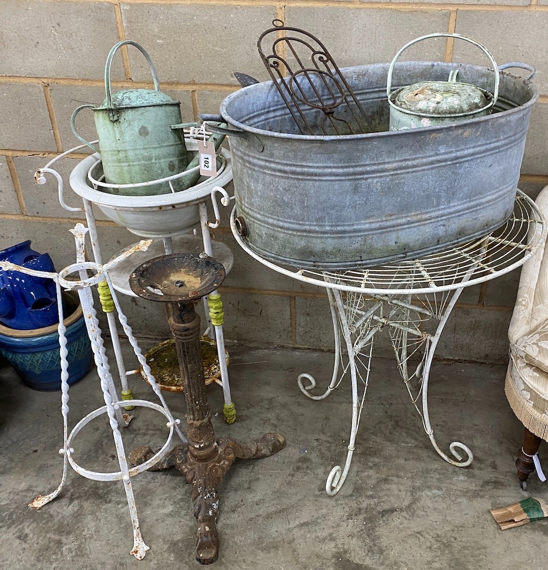
[[[214,568],[227,570],[488,570],[547,567],[548,521],[500,531],[490,508],[548,488],[531,475],[521,491],[514,470],[522,426],[506,402],[505,369],[435,364],[430,412],[437,441],[463,441],[475,454],[467,469],[435,453],[394,363],[375,361],[349,477],[335,497],[325,479],[346,457],[350,386],[324,401],[308,400],[296,377],[328,380],[332,355],[231,348],[231,387],[238,421],[222,421],[222,391],[209,386],[216,434],[236,439],[281,431],[287,447],[266,459],[237,462],[220,485],[221,548]],[[26,388],[5,363],[0,369],[0,568],[199,568],[190,487],[178,471],[132,479],[146,543],[145,559],[128,556],[132,532],[120,482],[96,482],[69,468],[64,492],[40,511],[36,494],[58,486],[62,474],[60,393]],[[136,397],[152,390],[132,378]],[[167,393],[183,420],[183,398]],[[71,425],[102,404],[97,377],[70,390]],[[88,469],[117,470],[106,416],[75,442],[75,459]],[[136,410],[124,439],[163,443],[157,413]],[[546,447],[541,446],[542,455]],[[548,462],[547,462],[548,465]]]

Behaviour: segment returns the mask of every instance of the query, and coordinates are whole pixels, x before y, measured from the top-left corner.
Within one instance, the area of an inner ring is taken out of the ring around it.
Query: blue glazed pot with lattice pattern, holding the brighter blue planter
[[[64,320],[67,327],[68,384],[75,384],[92,363],[91,343],[81,307],[71,298],[72,314]],[[24,336],[23,336],[24,335]],[[61,359],[57,325],[19,331],[0,325],[0,354],[11,364],[24,384],[35,390],[61,389]]]

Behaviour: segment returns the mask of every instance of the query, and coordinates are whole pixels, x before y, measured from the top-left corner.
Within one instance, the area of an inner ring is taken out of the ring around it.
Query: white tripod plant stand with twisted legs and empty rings
[[[117,259],[114,259],[105,265],[101,265],[95,262],[86,262],[84,259],[84,239],[87,231],[87,227],[84,227],[84,225],[81,223],[77,223],[75,228],[71,230],[76,241],[76,263],[65,267],[59,273],[35,271],[25,267],[17,266],[13,263],[0,262],[0,267],[4,270],[21,271],[29,275],[54,280],[57,291],[62,392],[61,413],[63,416],[63,447],[59,450],[59,453],[63,455],[63,475],[61,482],[55,491],[52,491],[47,495],[38,495],[34,500],[32,500],[29,506],[34,507],[38,510],[45,504],[54,500],[59,495],[67,479],[68,465],[71,465],[71,467],[77,473],[83,475],[83,477],[86,477],[88,479],[93,479],[95,481],[122,481],[124,484],[124,491],[126,494],[126,499],[128,501],[129,514],[133,527],[133,549],[130,554],[141,560],[145,556],[145,553],[149,547],[145,544],[145,541],[141,536],[139,520],[137,518],[137,507],[133,495],[130,477],[147,470],[154,463],[160,461],[163,457],[165,457],[165,455],[170,450],[174,433],[177,433],[182,442],[186,442],[186,438],[183,436],[181,430],[179,429],[180,421],[174,419],[173,415],[170,412],[170,409],[167,407],[167,404],[162,396],[160,386],[158,386],[156,380],[154,379],[154,376],[152,376],[150,367],[146,363],[146,359],[142,354],[141,349],[138,347],[137,340],[133,336],[133,331],[128,324],[128,320],[120,308],[116,291],[112,286],[112,281],[109,276],[109,270],[111,270],[113,267],[116,267],[118,263],[122,262],[124,259],[128,258],[136,251],[146,250],[152,240],[141,241]],[[92,275],[89,276],[89,273]],[[116,310],[118,320],[120,321],[120,324],[122,325],[122,328],[124,329],[124,332],[133,347],[134,354],[141,364],[150,386],[152,386],[154,393],[160,400],[161,405],[155,404],[154,402],[150,402],[148,400],[134,400],[133,398],[131,400],[120,400],[118,398],[108,363],[107,353],[105,351],[103,337],[101,336],[101,329],[99,328],[99,321],[97,320],[97,314],[95,308],[93,307],[91,287],[100,284],[104,284],[103,297],[109,296],[108,293],[104,291],[105,287],[108,288],[108,291],[110,293],[109,300]],[[78,292],[85,325],[87,328],[89,340],[91,341],[91,348],[97,367],[97,373],[99,375],[101,391],[103,392],[103,398],[105,402],[105,405],[103,407],[93,410],[93,412],[87,414],[87,416],[82,418],[75,425],[75,427],[73,427],[70,433],[68,431],[68,350],[62,303],[63,288],[67,291],[76,290]],[[169,430],[165,444],[156,454],[154,454],[154,457],[134,467],[128,466],[124,443],[122,442],[122,435],[119,429],[120,425],[126,426],[132,419],[132,417],[128,416],[128,414],[124,414],[122,412],[122,406],[128,405],[132,407],[140,406],[144,408],[151,408],[161,413],[167,420],[167,428]],[[112,435],[114,438],[114,446],[116,447],[118,465],[120,466],[120,471],[116,471],[114,473],[100,473],[98,471],[90,471],[88,469],[84,469],[84,467],[78,465],[78,463],[76,463],[75,459],[72,457],[72,454],[74,453],[73,445],[76,435],[90,421],[96,417],[101,416],[101,414],[104,413],[108,415],[109,425],[112,429]]]

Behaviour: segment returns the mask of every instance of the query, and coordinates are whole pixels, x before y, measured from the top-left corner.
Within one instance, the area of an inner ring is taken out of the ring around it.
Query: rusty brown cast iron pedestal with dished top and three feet
[[[224,275],[222,264],[206,254],[171,254],[143,263],[129,277],[136,295],[168,304],[169,327],[175,337],[185,394],[188,443],[175,447],[150,469],[177,467],[192,484],[194,516],[198,520],[196,559],[201,564],[215,562],[219,553],[216,487],[228,468],[236,458],[269,457],[285,447],[285,439],[278,433],[267,433],[246,444],[215,439],[200,357],[200,317],[194,303],[216,290]],[[150,447],[140,447],[130,454],[129,461],[140,463],[152,454]]]

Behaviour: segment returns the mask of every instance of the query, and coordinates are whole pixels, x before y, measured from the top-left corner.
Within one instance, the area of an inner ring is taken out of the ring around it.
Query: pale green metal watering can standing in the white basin
[[[145,56],[152,72],[154,89],[125,89],[112,94],[112,59],[124,45],[135,46]],[[78,140],[93,152],[99,152],[76,132],[75,125],[76,115],[82,109],[93,109],[106,182],[137,184],[167,178],[185,170],[188,160],[180,103],[160,91],[156,69],[144,47],[131,40],[118,42],[112,47],[105,64],[105,93],[107,99],[100,107],[81,105],[75,109],[71,128]],[[163,182],[135,188],[101,187],[103,189],[122,196],[152,196],[185,188],[179,178],[171,181],[171,186],[169,182]]]

